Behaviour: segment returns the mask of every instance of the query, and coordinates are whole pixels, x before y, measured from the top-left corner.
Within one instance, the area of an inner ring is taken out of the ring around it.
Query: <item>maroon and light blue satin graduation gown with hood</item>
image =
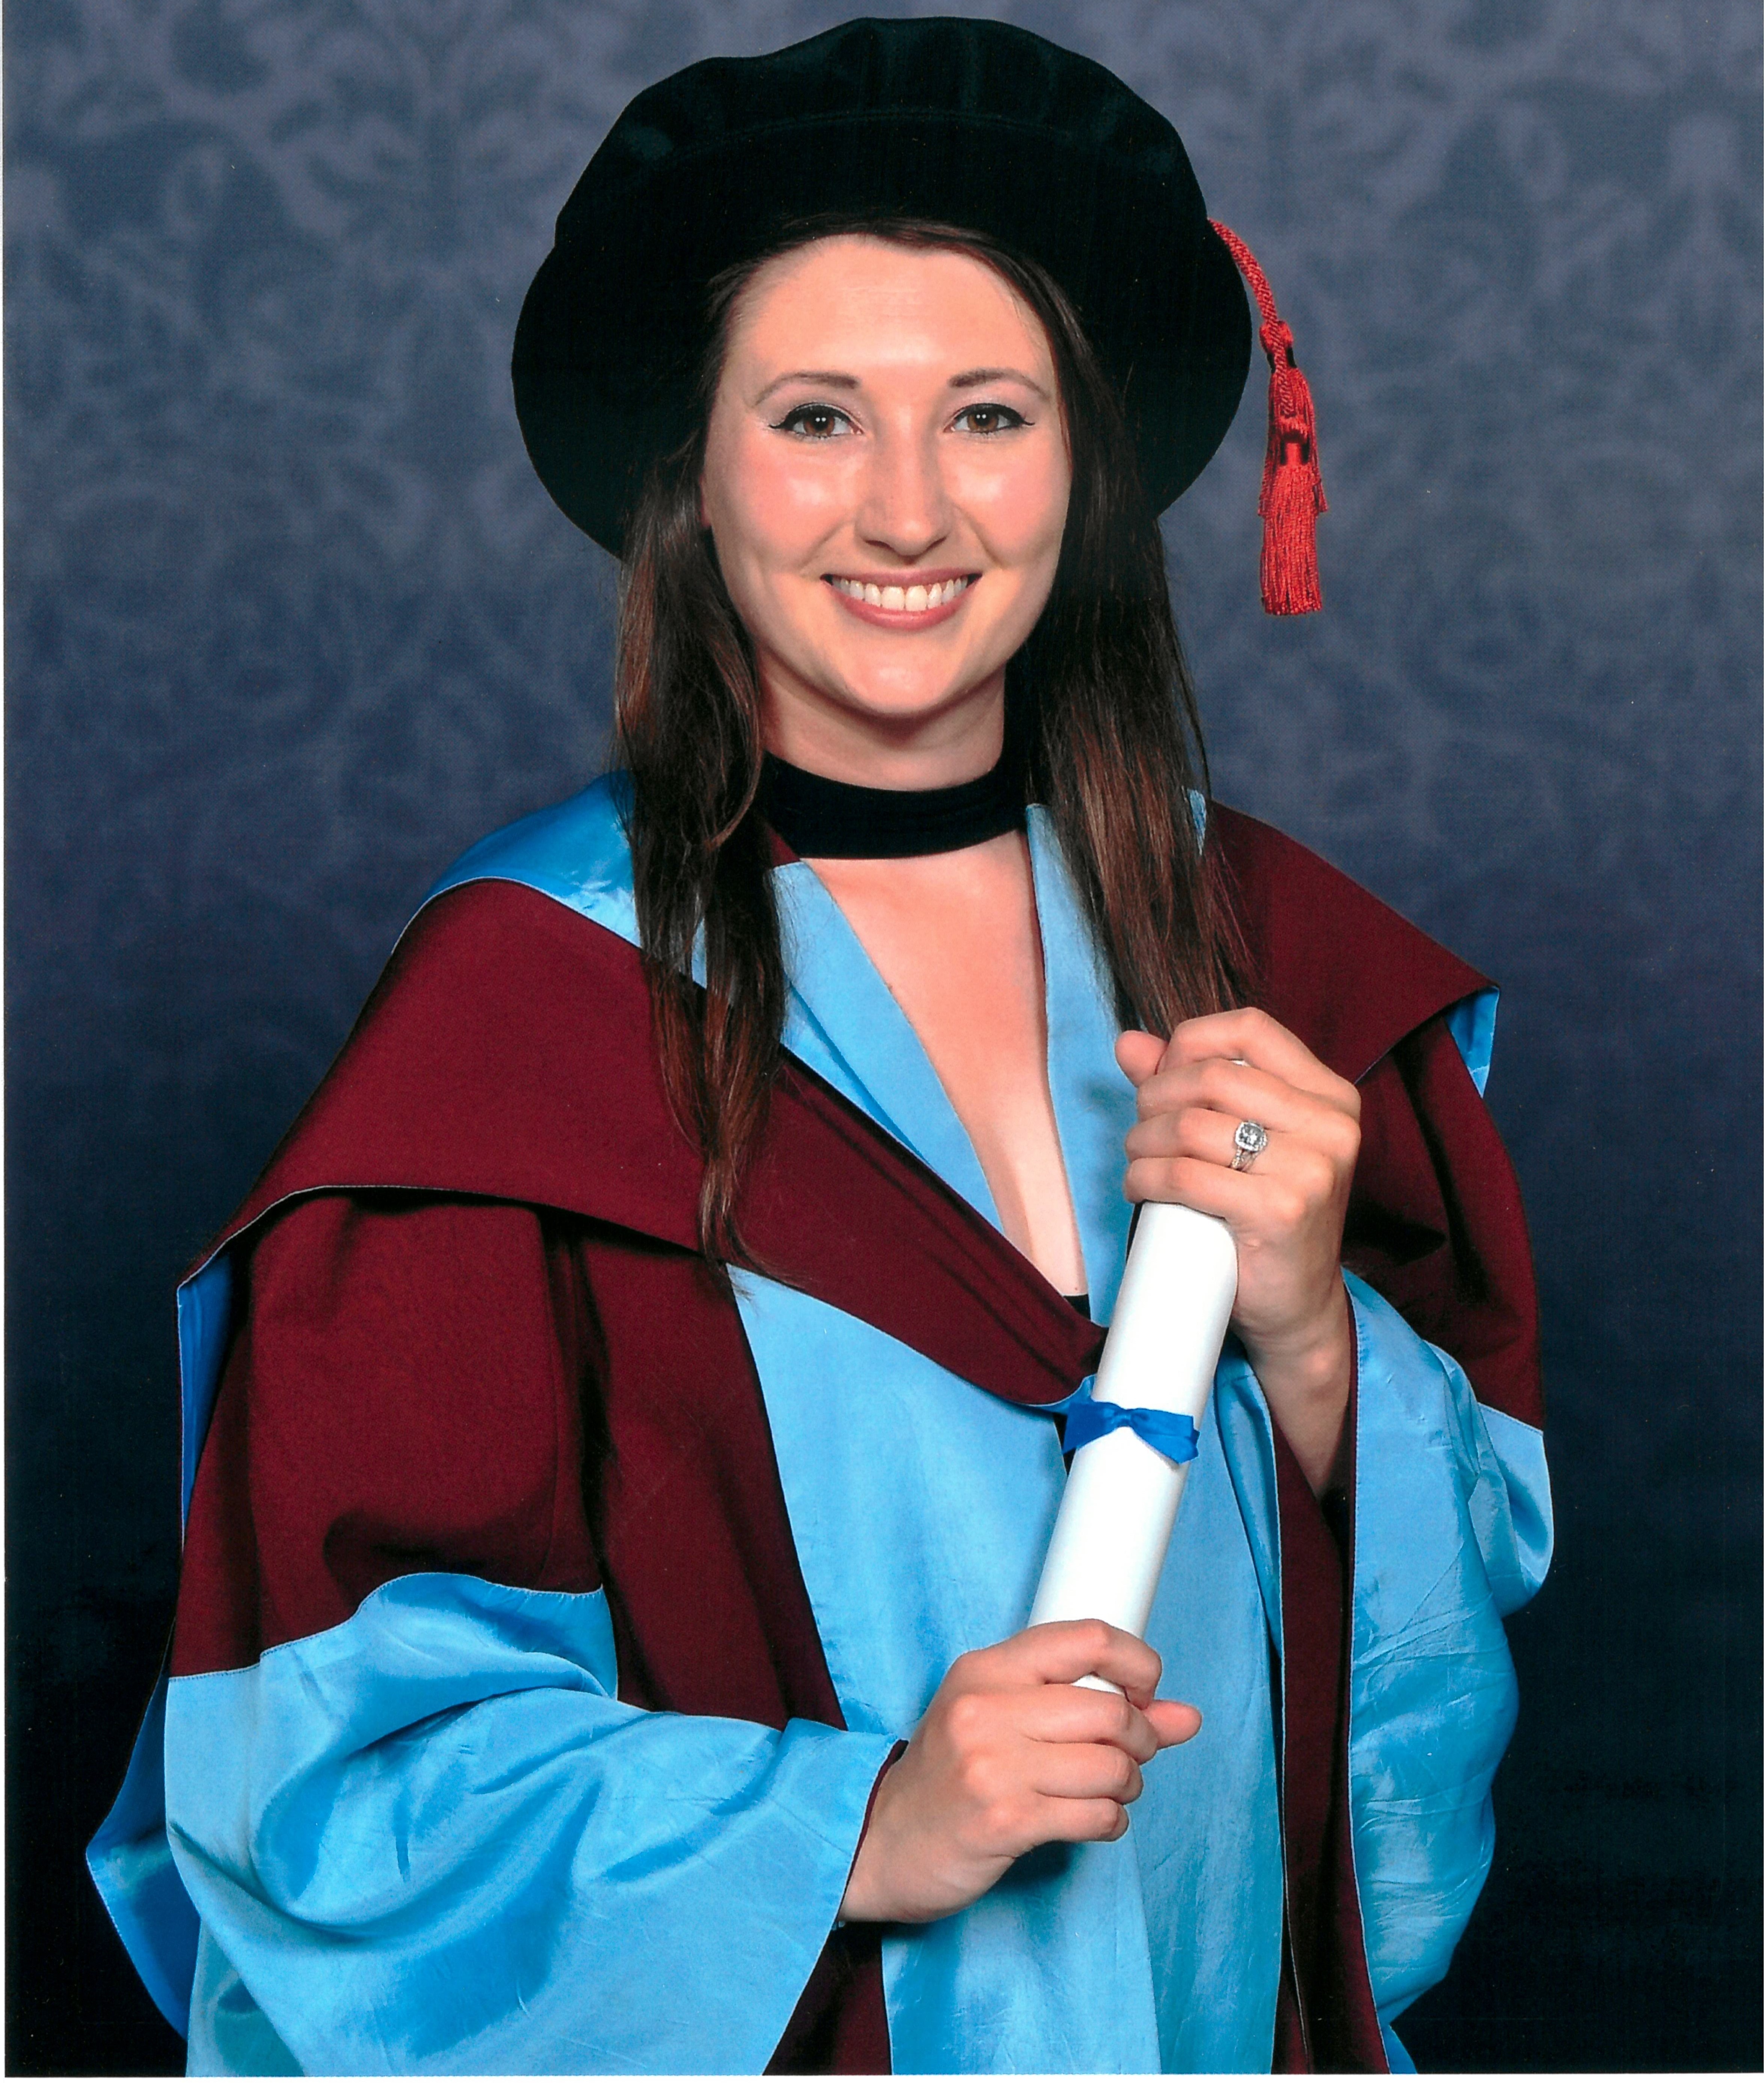
[[[442,879],[179,1289],[175,1639],[90,1858],[192,2073],[1408,2066],[1549,1550],[1489,985],[1214,806],[1260,1002],[1362,1089],[1350,1491],[1331,1523],[1229,1341],[1150,1625],[1202,1733],[1120,1843],[837,1927],[898,1741],[1027,1618],[1133,1094],[1031,808],[1093,1323],[781,860],[764,1273],[706,1266],[616,789]]]

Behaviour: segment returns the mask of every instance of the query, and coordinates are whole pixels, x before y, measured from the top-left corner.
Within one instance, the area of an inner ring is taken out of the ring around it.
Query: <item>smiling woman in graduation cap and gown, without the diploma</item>
[[[444,877],[181,1294],[94,1871],[192,2068],[1400,2058],[1545,1558],[1531,1287],[1483,979],[1202,792],[1156,512],[1245,358],[1175,133],[1023,31],[596,156],[516,402],[627,560],[625,771]],[[1150,1639],[1025,1631],[1143,1198],[1235,1339]]]

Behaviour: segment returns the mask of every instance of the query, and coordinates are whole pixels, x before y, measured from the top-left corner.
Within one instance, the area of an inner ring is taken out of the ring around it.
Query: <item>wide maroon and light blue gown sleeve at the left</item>
[[[327,1194],[242,1289],[167,1700],[192,2073],[762,2071],[891,1737],[621,1700],[566,1225]]]

